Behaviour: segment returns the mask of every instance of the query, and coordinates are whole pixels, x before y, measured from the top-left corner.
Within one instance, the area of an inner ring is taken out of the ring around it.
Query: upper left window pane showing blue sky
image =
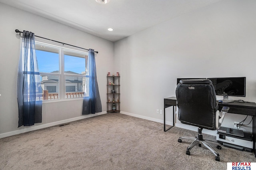
[[[59,49],[36,44],[36,58],[40,73],[59,73]]]

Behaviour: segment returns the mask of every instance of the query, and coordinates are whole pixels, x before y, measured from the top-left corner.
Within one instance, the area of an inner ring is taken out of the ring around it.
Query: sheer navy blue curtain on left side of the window
[[[41,97],[34,33],[23,31],[17,80],[18,127],[42,122]]]

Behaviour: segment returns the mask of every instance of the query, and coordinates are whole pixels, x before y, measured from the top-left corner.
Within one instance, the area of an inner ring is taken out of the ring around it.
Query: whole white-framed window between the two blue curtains
[[[88,53],[36,42],[43,100],[84,97]]]

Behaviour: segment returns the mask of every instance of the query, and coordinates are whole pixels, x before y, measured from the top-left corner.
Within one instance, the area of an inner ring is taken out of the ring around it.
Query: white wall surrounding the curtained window
[[[112,68],[114,67],[114,44],[112,42],[2,3],[0,3],[0,24],[0,138],[94,116],[82,116],[82,99],[43,103],[42,123],[37,123],[32,127],[22,126],[17,128],[18,104],[16,83],[20,40],[19,36],[16,36],[14,32],[15,29],[31,31],[37,36],[99,51],[96,55],[97,78],[102,102],[102,113],[106,113],[106,75],[109,71],[113,72]]]

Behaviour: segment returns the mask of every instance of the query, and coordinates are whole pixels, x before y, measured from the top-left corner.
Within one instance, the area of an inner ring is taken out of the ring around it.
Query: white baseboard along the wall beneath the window
[[[12,136],[12,135],[20,134],[20,133],[24,133],[24,132],[30,132],[30,131],[38,130],[38,129],[41,129],[41,128],[47,128],[47,127],[52,127],[52,126],[56,126],[56,125],[61,125],[61,124],[64,124],[64,123],[78,121],[78,120],[81,120],[81,119],[86,119],[86,118],[94,117],[94,116],[98,116],[98,115],[104,115],[106,113],[107,112],[104,111],[104,112],[100,112],[100,113],[83,115],[83,116],[80,116],[80,117],[74,117],[74,118],[71,118],[71,119],[66,119],[66,120],[62,120],[62,121],[47,123],[47,124],[38,125],[38,126],[23,127],[23,129],[20,129],[20,130],[14,130],[12,132],[2,133],[2,134],[0,134],[0,138],[5,138],[5,137],[8,137],[8,136]]]

